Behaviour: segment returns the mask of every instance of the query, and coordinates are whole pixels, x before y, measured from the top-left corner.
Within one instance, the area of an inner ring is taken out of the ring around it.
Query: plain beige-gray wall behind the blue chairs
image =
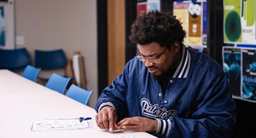
[[[94,107],[98,98],[96,0],[16,0],[15,35],[25,37],[25,44],[16,48],[26,47],[32,64],[35,49],[62,48],[68,59],[80,51],[85,58],[87,90],[93,90],[88,105]]]

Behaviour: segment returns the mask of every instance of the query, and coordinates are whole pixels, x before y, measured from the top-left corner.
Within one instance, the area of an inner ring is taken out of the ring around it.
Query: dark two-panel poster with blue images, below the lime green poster
[[[223,46],[222,59],[233,98],[256,103],[256,48]]]

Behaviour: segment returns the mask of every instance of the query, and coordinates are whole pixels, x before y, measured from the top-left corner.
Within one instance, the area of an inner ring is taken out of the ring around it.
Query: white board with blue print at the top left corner
[[[14,49],[14,0],[0,0],[0,48]]]

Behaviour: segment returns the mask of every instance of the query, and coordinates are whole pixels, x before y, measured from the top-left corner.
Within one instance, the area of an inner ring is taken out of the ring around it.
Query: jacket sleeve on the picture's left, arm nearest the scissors
[[[106,87],[102,91],[102,94],[99,96],[98,102],[95,105],[95,110],[97,113],[103,106],[109,105],[116,110],[118,117],[117,121],[120,121],[126,117],[127,106],[125,97],[129,79],[129,64],[130,62],[125,65],[122,74],[112,81],[112,85]]]

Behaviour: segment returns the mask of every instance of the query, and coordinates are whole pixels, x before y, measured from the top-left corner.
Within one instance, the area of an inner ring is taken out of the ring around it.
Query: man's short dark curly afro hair
[[[181,44],[185,35],[176,16],[156,10],[137,17],[132,25],[129,39],[140,45],[157,42],[160,46],[169,48],[175,42]]]

